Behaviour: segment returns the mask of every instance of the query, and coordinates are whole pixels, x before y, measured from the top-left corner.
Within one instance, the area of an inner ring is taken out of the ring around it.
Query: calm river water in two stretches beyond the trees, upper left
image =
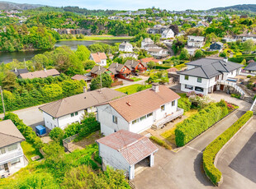
[[[116,43],[122,43],[123,41],[129,41],[130,39],[105,39],[105,40],[67,40],[67,41],[58,41],[55,44],[55,47],[60,47],[63,45],[69,46],[72,50],[76,50],[78,48],[78,45],[85,45],[89,46],[90,44],[96,44],[96,43],[104,43],[104,44],[116,44]],[[26,52],[13,52],[13,53],[7,53],[2,52],[0,53],[0,62],[8,63],[12,62],[13,59],[17,59],[18,61],[24,61],[30,60],[38,53],[44,53],[45,51],[26,51]]]

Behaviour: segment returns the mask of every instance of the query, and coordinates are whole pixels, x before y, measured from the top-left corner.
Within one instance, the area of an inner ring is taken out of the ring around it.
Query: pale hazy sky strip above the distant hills
[[[137,10],[138,8],[147,7],[159,7],[167,10],[205,10],[212,7],[256,3],[255,0],[9,0],[9,2],[118,10]]]

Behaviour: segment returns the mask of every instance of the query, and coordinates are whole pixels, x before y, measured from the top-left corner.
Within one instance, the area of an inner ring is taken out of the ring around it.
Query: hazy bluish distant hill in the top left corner
[[[15,2],[1,2],[0,1],[0,10],[26,10],[33,9],[37,7],[44,7],[45,5],[36,5],[36,4],[26,4],[26,3],[15,3]]]

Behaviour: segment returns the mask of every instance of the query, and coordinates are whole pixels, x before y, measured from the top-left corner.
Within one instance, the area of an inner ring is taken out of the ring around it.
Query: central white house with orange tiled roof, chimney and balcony
[[[121,129],[135,133],[150,127],[158,129],[183,115],[183,109],[178,108],[179,98],[168,87],[154,84],[152,89],[98,105],[97,121],[105,136]]]

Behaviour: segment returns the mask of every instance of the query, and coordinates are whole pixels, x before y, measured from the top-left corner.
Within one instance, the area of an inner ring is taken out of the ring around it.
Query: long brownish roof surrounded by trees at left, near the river
[[[45,78],[48,76],[59,76],[59,71],[56,69],[41,70],[34,72],[21,73],[19,78],[21,79],[34,79],[34,78]]]

